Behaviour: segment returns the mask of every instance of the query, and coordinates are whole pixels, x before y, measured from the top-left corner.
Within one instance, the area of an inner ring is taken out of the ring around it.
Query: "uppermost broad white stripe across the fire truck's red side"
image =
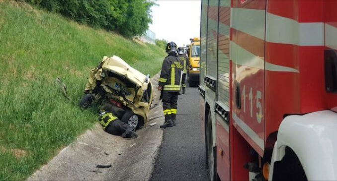
[[[324,45],[323,22],[299,23],[260,9],[231,8],[231,28],[264,40],[265,14],[267,42],[298,46]]]

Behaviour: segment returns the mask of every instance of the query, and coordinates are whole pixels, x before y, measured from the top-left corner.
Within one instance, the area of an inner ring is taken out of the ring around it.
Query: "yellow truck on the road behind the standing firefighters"
[[[187,71],[190,87],[199,85],[200,76],[200,38],[191,38],[191,44],[187,49],[189,63],[191,68]]]

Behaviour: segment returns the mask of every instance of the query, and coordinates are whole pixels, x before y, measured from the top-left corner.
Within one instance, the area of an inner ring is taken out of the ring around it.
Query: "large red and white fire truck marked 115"
[[[337,180],[337,1],[202,0],[210,179]]]

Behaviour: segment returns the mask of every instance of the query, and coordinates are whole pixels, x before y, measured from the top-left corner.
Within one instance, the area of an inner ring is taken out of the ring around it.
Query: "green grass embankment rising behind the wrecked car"
[[[0,1],[0,180],[23,180],[97,117],[66,100],[62,77],[79,102],[91,68],[117,55],[144,74],[160,70],[164,51],[95,30],[25,3]]]

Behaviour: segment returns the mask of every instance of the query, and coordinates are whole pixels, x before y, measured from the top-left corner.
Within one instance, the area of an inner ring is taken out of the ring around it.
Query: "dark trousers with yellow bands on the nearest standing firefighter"
[[[163,110],[165,115],[165,121],[175,120],[176,108],[178,101],[178,92],[163,92]]]

